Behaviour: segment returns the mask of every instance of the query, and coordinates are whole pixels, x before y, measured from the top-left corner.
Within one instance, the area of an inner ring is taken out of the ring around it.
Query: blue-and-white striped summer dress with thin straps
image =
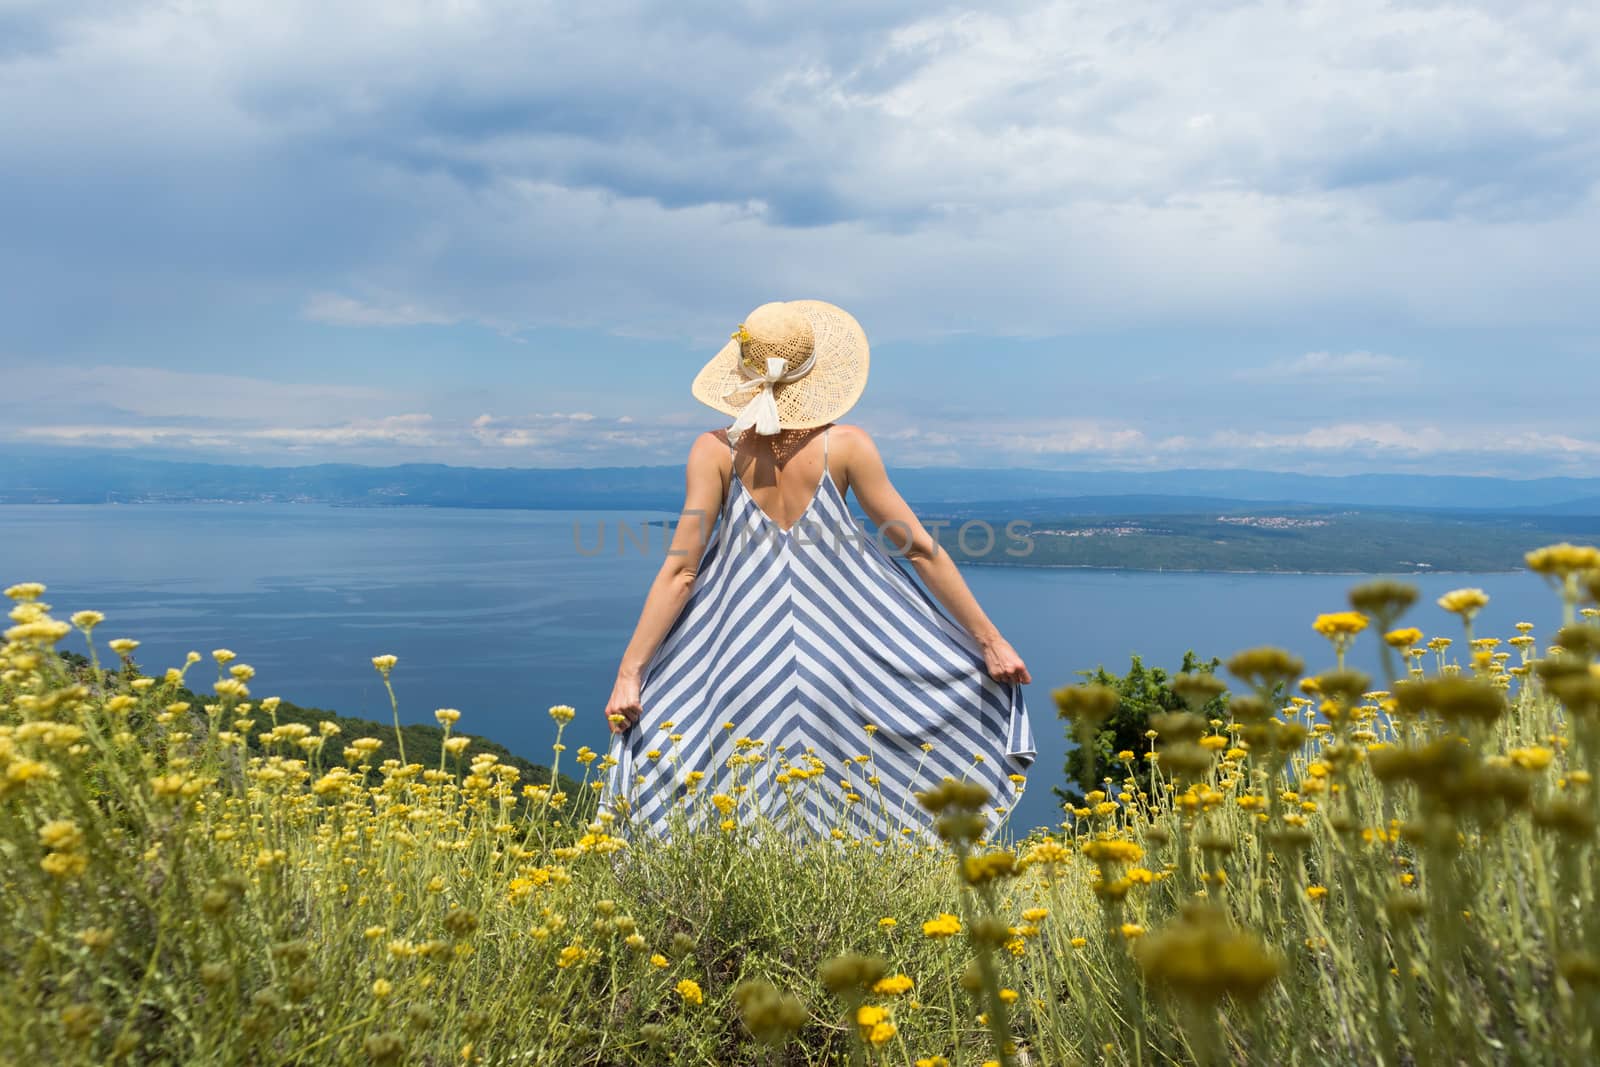
[[[603,793],[624,827],[693,824],[882,841],[923,837],[914,793],[946,776],[994,795],[1034,761],[1021,688],[867,533],[827,472],[789,530],[731,475],[694,590],[645,669],[640,720]]]

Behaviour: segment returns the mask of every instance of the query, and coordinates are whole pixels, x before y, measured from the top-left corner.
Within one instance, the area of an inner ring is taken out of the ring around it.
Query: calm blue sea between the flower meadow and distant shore
[[[318,504],[0,506],[0,585],[40,581],[58,617],[106,613],[96,638],[133,637],[150,673],[214,648],[256,669],[254,696],[387,721],[371,657],[394,654],[405,721],[462,713],[458,731],[547,763],[552,704],[570,704],[570,753],[605,750],[603,707],[666,550],[661,512],[328,507]],[[1038,741],[1011,817],[1021,835],[1059,822],[1051,787],[1067,752],[1051,689],[1131,657],[1176,672],[1186,651],[1227,657],[1280,645],[1309,670],[1333,665],[1310,629],[1347,606],[1352,574],[1160,573],[970,565],[968,585],[1034,675]],[[1534,574],[1403,576],[1424,597],[1405,622],[1461,637],[1434,600],[1477,585],[1478,635],[1520,621],[1549,635],[1560,601]],[[64,648],[83,651],[74,633]],[[1379,677],[1376,635],[1350,664]],[[1458,646],[1453,651],[1461,648]],[[571,763],[566,763],[571,766]]]

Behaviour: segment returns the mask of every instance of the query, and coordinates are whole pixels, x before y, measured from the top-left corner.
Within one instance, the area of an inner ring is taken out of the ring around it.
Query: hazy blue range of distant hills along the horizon
[[[1600,478],[1302,475],[1269,470],[898,467],[917,507],[995,514],[1162,514],[1298,504],[1600,515]],[[250,467],[115,453],[0,450],[0,504],[283,501],[338,506],[675,510],[682,467]]]

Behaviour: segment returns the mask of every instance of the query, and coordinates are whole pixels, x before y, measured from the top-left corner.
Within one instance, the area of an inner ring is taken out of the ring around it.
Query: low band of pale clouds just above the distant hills
[[[144,376],[174,389],[224,389],[213,376]],[[218,376],[221,378],[221,376]],[[206,459],[256,462],[451,462],[462,466],[651,466],[682,462],[704,421],[686,426],[675,414],[642,419],[602,418],[590,411],[522,414],[434,414],[390,410],[402,395],[350,389],[344,403],[373,405],[331,414],[318,387],[283,382],[226,389],[272,389],[282,408],[270,418],[248,408],[178,418],[155,405],[147,414],[122,411],[115,421],[62,418],[0,430],[0,443],[24,442],[70,448],[160,450]],[[322,402],[322,406],[296,402]],[[334,403],[334,408],[338,403]],[[96,408],[98,410],[98,408]],[[88,410],[86,410],[88,411]],[[93,411],[88,411],[93,414]],[[1173,424],[1163,414],[1139,418],[978,419],[958,411],[938,419],[890,414],[869,419],[891,467],[1046,467],[1077,470],[1155,470],[1173,467],[1246,467],[1354,474],[1413,470],[1426,474],[1582,474],[1600,459],[1600,440],[1546,426],[1459,426],[1339,418],[1290,419],[1277,429],[1216,422]]]

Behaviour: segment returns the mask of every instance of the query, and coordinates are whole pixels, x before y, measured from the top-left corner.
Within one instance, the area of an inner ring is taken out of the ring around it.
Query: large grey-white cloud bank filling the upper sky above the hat
[[[24,8],[0,282],[675,338],[773,293],[875,338],[1590,318],[1592,6],[776,11]]]

